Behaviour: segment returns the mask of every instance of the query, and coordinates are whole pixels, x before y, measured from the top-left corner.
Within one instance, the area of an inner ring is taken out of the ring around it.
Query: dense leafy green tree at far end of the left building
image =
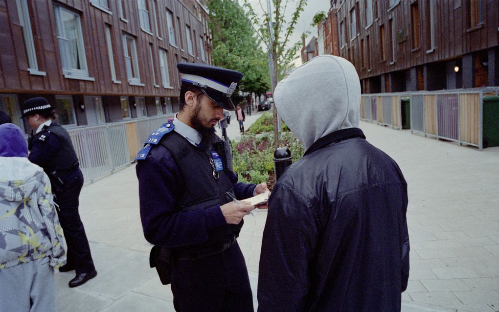
[[[250,18],[235,0],[210,0],[213,64],[243,73],[237,91],[262,94],[270,86],[266,54]]]

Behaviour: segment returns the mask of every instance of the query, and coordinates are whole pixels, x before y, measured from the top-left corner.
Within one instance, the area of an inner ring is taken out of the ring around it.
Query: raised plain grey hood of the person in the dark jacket
[[[277,84],[274,102],[307,150],[327,134],[359,126],[359,76],[342,57],[316,56]]]

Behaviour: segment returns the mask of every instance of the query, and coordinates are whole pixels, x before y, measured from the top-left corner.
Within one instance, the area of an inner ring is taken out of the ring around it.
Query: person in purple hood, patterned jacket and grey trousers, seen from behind
[[[21,130],[0,125],[1,311],[56,311],[53,268],[64,265],[50,180],[28,159]]]

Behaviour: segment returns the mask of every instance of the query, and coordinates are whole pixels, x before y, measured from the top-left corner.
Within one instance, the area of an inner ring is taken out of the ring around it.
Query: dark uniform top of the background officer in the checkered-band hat
[[[31,145],[28,159],[43,168],[55,192],[63,191],[63,184],[68,182],[79,168],[69,133],[52,122],[34,135]]]

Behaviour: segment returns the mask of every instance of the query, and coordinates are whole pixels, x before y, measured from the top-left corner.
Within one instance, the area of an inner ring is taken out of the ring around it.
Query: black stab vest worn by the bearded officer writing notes
[[[209,208],[224,205],[232,201],[226,192],[234,194],[233,184],[224,171],[219,171],[219,178],[213,176],[213,167],[210,164],[210,153],[195,147],[176,131],[165,135],[160,144],[170,153],[179,168],[182,176],[182,197],[176,203],[179,211]],[[220,153],[219,153],[220,154]],[[210,252],[216,246],[231,241],[237,237],[243,226],[243,220],[238,225],[225,224],[215,228],[208,241],[197,245],[176,248],[178,251],[187,251],[194,254]]]

